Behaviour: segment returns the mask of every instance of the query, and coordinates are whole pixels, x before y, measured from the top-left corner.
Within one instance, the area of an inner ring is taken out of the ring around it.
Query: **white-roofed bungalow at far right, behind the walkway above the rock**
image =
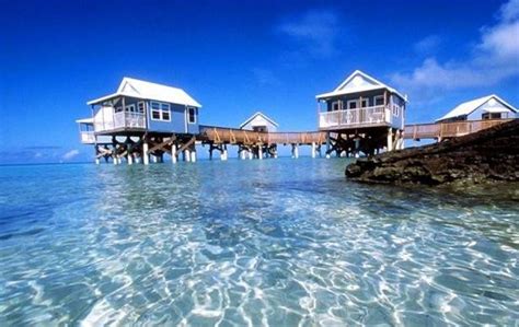
[[[517,117],[517,108],[492,94],[464,102],[450,110],[437,122],[451,122],[461,120],[512,119]]]

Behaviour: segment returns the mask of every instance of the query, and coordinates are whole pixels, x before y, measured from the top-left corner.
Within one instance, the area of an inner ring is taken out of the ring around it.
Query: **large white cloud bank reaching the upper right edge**
[[[519,0],[505,3],[493,26],[481,28],[481,38],[465,60],[438,62],[429,57],[411,73],[392,77],[413,103],[428,103],[438,91],[487,86],[519,75]],[[418,101],[415,100],[418,98]]]

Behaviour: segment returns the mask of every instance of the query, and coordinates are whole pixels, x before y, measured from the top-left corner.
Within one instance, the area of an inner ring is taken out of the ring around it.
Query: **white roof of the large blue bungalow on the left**
[[[99,104],[116,96],[132,96],[137,98],[155,100],[200,108],[201,105],[184,90],[163,84],[151,83],[131,78],[124,78],[116,93],[89,101],[89,105]]]

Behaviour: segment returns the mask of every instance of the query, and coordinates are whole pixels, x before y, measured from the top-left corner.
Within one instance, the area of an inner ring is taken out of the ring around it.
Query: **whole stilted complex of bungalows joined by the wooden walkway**
[[[404,140],[443,141],[516,118],[517,109],[497,95],[458,105],[431,124],[405,124],[407,96],[354,71],[335,90],[315,96],[318,130],[282,132],[256,112],[239,128],[199,124],[201,104],[184,90],[124,78],[115,93],[89,101],[92,117],[78,119],[81,142],[94,145],[95,162],[114,164],[196,162],[207,149],[229,159],[230,147],[241,160],[278,156],[278,147],[299,157],[310,147],[312,157],[360,156],[404,149]]]

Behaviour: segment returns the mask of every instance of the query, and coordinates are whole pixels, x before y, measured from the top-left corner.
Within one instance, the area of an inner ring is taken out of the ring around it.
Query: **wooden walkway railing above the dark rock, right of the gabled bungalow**
[[[510,119],[487,119],[407,125],[404,129],[404,138],[413,140],[455,138],[473,133],[509,120]]]

